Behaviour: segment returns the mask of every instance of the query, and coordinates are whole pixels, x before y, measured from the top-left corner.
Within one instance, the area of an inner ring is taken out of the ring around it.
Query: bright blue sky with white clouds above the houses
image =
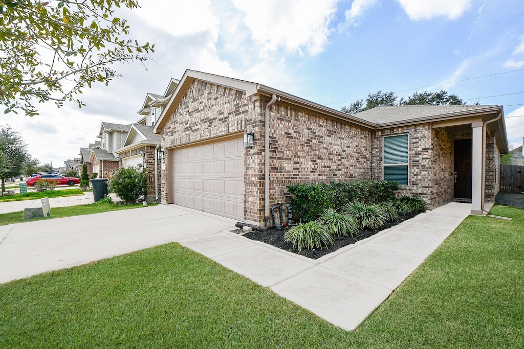
[[[268,85],[333,109],[394,91],[456,94],[503,105],[510,147],[524,136],[522,0],[139,0],[118,16],[130,37],[155,44],[145,64],[85,89],[81,109],[38,104],[40,115],[0,115],[40,162],[63,166],[98,140],[102,121],[132,123],[147,93],[186,69]]]

